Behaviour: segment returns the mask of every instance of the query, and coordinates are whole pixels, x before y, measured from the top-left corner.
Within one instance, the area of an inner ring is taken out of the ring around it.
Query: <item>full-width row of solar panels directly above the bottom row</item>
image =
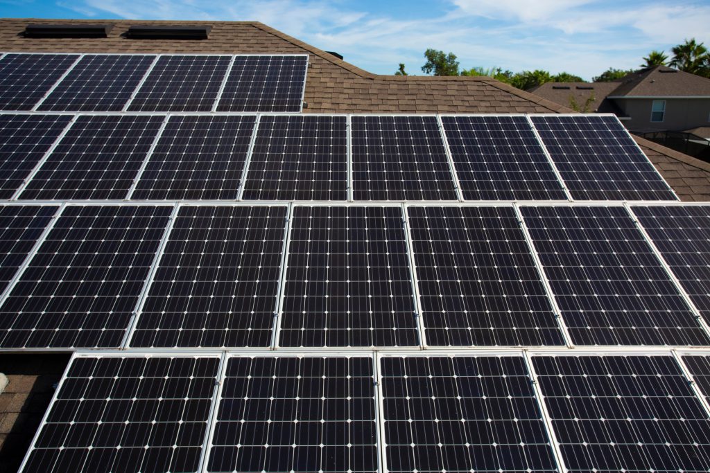
[[[631,208],[1,206],[0,347],[710,345],[710,206]]]

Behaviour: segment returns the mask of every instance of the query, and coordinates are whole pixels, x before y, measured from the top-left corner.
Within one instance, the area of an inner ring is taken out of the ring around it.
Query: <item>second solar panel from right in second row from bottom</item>
[[[573,343],[710,343],[625,208],[521,211]]]

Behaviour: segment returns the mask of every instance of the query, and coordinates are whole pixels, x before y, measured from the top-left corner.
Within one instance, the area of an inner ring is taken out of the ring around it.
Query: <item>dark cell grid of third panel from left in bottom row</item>
[[[557,472],[523,357],[383,357],[389,472]]]

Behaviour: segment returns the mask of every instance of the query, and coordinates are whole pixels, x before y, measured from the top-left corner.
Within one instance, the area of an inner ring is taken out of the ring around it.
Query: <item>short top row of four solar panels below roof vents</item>
[[[307,55],[6,54],[0,110],[300,112]]]

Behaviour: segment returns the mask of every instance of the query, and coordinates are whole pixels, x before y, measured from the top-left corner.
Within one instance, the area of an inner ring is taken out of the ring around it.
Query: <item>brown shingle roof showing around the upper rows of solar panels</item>
[[[28,23],[106,23],[107,38],[23,38]],[[131,25],[209,25],[207,40],[129,40]],[[305,113],[574,113],[490,77],[378,75],[255,21],[0,19],[0,50],[12,52],[283,53],[309,55]],[[671,74],[665,74],[671,75]],[[710,82],[710,81],[709,81]],[[710,201],[710,165],[634,137],[683,200]]]

